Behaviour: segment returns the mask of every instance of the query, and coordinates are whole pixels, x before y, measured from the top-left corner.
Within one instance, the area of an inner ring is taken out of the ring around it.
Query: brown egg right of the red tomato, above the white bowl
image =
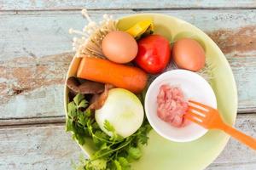
[[[200,71],[206,64],[206,54],[199,42],[183,38],[174,43],[172,58],[179,68]]]

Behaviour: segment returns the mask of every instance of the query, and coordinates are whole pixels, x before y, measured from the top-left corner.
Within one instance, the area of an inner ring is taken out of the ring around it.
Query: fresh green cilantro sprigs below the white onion
[[[89,159],[82,159],[76,170],[130,170],[131,162],[142,156],[140,145],[148,144],[150,125],[145,119],[136,133],[123,139],[107,120],[104,128],[108,136],[96,123],[94,114],[87,109],[88,102],[83,94],[77,94],[67,105],[66,131],[73,133],[73,139],[85,144],[91,138],[96,152]]]

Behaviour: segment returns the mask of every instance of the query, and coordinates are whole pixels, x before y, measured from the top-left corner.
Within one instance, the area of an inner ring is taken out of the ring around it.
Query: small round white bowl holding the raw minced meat
[[[207,129],[191,122],[186,127],[172,127],[157,116],[157,95],[162,84],[177,86],[183,90],[187,99],[201,102],[217,108],[215,94],[210,84],[201,76],[192,71],[173,70],[166,71],[154,79],[148,88],[145,98],[145,111],[148,122],[162,137],[175,142],[189,142],[199,139]]]

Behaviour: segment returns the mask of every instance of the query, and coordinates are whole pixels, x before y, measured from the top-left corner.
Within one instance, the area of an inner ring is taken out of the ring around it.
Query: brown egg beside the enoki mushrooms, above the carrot
[[[128,63],[137,55],[137,42],[124,31],[112,31],[102,40],[103,54],[116,63]]]

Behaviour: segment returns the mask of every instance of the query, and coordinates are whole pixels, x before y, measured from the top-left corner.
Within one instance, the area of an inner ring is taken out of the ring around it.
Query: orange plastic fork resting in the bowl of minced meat
[[[192,104],[192,105],[191,105]],[[189,110],[185,114],[185,118],[192,122],[195,122],[207,129],[217,128],[223,130],[225,133],[229,133],[230,136],[238,139],[241,143],[247,144],[253,150],[256,150],[256,139],[248,136],[245,133],[241,133],[236,128],[223,122],[216,109],[208,105],[189,100]]]

